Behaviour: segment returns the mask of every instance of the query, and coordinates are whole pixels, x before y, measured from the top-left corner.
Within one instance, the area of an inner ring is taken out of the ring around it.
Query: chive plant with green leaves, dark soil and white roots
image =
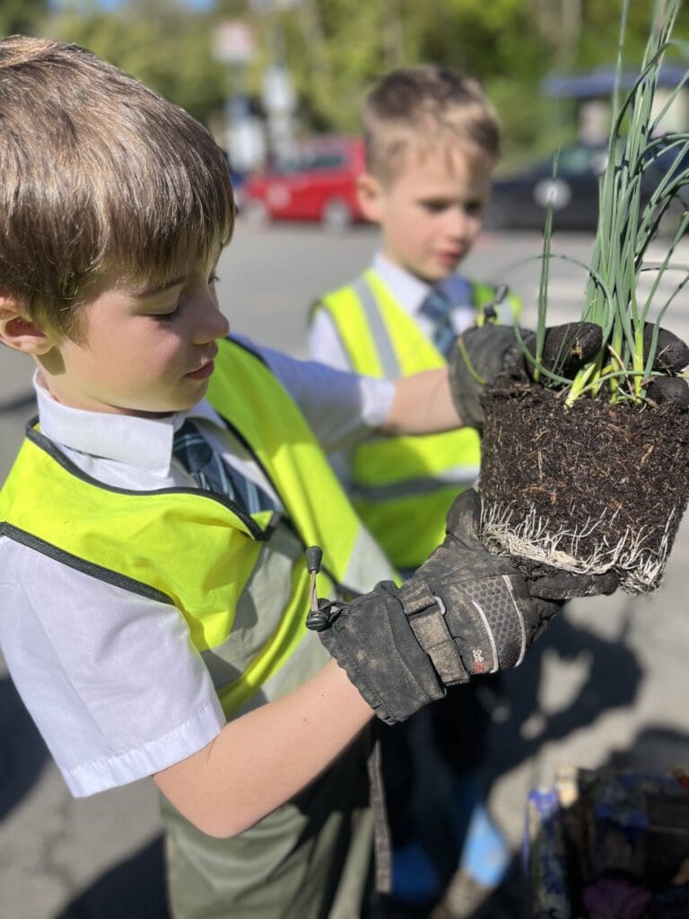
[[[669,278],[669,272],[678,270],[672,264],[672,256],[689,227],[689,213],[682,199],[683,187],[689,198],[689,132],[661,135],[668,109],[683,92],[689,74],[685,74],[662,107],[656,104],[661,64],[672,43],[672,26],[681,2],[660,0],[658,3],[640,73],[621,101],[622,48],[629,8],[629,0],[623,0],[613,117],[606,164],[600,178],[598,225],[590,263],[582,266],[588,273],[588,280],[581,318],[601,326],[603,344],[598,354],[573,379],[562,376],[564,371],[558,369],[557,362],[555,369],[543,366],[549,268],[551,259],[565,257],[551,251],[553,215],[552,206],[548,207],[535,346],[526,348],[516,325],[515,335],[532,365],[534,380],[557,390],[565,405],[584,397],[598,403],[640,404],[645,401],[649,382],[658,372],[653,370],[653,364],[661,321],[689,280],[687,268],[681,267],[680,280],[671,283],[669,296],[663,294],[661,297],[661,289],[667,287],[661,284],[663,278]],[[554,176],[557,176],[557,168],[556,157]],[[664,237],[665,249],[660,264],[651,266],[648,262],[650,245],[664,235],[668,218],[678,205],[683,213],[671,236]],[[654,272],[648,294],[641,293],[642,285],[639,284],[644,271]],[[664,302],[659,304],[659,300]],[[531,348],[535,348],[533,353]],[[549,411],[552,403],[546,403]],[[649,460],[649,469],[652,465],[654,474],[661,471],[668,487],[639,489],[635,480],[634,494],[630,497],[634,462],[638,462],[638,468],[644,467],[653,445],[646,450],[645,442],[641,445],[633,439],[626,444],[620,442],[620,451],[613,448],[605,454],[610,462],[608,471],[619,472],[615,482],[607,482],[611,494],[611,500],[607,501],[600,489],[592,487],[589,478],[594,471],[594,482],[605,482],[605,469],[595,467],[594,470],[594,461],[593,465],[586,463],[586,472],[580,481],[568,466],[567,451],[563,454],[562,437],[570,432],[577,448],[590,449],[596,442],[596,432],[593,431],[593,438],[580,435],[581,419],[592,418],[593,425],[598,419],[601,421],[598,433],[604,438],[601,442],[609,446],[615,444],[616,432],[624,435],[629,425],[637,424],[637,415],[621,412],[613,422],[596,412],[563,413],[558,431],[556,414],[537,412],[538,406],[546,403],[536,400],[525,404],[525,411],[519,413],[523,421],[520,426],[512,424],[512,404],[502,391],[491,402],[493,414],[484,430],[484,446],[487,446],[480,474],[483,544],[491,551],[507,553],[523,563],[543,564],[573,573],[602,574],[614,570],[628,593],[649,593],[661,583],[672,539],[686,505],[685,463],[677,459],[678,474],[665,475],[667,470],[662,463],[667,454],[661,456],[659,450],[658,458]],[[584,404],[582,408],[588,410],[593,406]],[[549,424],[551,419],[554,428],[551,436],[545,437],[543,425]],[[648,420],[647,414],[644,422]],[[659,432],[667,432],[670,430],[667,425],[673,425],[676,439],[672,443],[679,445],[673,455],[681,458],[689,443],[685,425],[676,425],[672,420],[667,422],[662,414],[657,420],[661,422]],[[532,441],[526,445],[519,439],[525,432],[533,433]],[[638,451],[642,447],[646,452],[640,456]],[[632,460],[631,465],[627,462],[626,449],[637,450],[634,454],[637,459]],[[520,459],[527,457],[523,466],[516,461],[510,463],[509,458],[517,455]]]

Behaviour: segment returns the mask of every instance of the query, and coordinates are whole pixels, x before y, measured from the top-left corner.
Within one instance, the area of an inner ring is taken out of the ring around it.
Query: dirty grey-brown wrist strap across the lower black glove
[[[421,578],[412,578],[398,589],[397,596],[416,640],[433,662],[445,686],[468,683],[469,674],[447,628],[445,606]]]

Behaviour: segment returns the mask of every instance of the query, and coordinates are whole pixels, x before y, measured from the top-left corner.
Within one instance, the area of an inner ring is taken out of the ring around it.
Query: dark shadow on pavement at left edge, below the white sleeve
[[[40,777],[49,754],[8,676],[0,679],[0,820]]]

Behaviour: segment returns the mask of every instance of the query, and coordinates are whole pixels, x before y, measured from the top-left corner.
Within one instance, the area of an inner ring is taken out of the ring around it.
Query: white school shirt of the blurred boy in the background
[[[420,312],[424,300],[431,291],[431,285],[395,265],[382,252],[375,256],[372,267],[390,289],[401,309],[412,317],[420,331],[432,341],[434,323]],[[446,294],[450,303],[455,304],[450,311],[450,322],[457,335],[460,335],[476,320],[476,310],[471,305],[471,284],[461,275],[451,275],[435,286]],[[352,369],[352,362],[344,350],[342,339],[330,314],[325,310],[316,311],[310,324],[309,353],[313,360],[322,360],[329,367],[338,370]]]

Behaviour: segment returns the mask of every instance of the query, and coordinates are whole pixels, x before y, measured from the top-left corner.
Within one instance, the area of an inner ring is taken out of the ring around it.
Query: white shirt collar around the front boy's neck
[[[186,417],[214,424],[219,421],[205,400],[187,412],[140,418],[131,414],[87,412],[58,403],[41,385],[38,371],[34,375],[34,388],[40,430],[50,440],[89,456],[113,459],[161,475],[170,470],[173,437]]]

